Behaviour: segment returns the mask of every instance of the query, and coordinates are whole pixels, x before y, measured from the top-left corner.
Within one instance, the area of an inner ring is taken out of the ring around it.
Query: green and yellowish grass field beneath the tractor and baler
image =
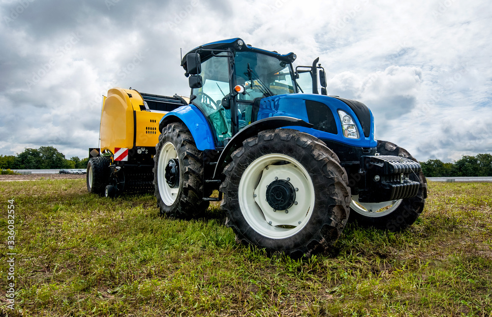
[[[218,206],[178,221],[152,195],[101,198],[85,180],[0,182],[0,316],[491,316],[491,193],[430,183],[408,230],[350,225],[331,254],[303,261],[237,245]]]

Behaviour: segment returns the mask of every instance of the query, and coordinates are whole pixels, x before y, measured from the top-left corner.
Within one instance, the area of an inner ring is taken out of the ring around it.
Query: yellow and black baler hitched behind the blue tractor
[[[89,149],[89,158],[95,159],[88,165],[88,190],[109,196],[154,190],[152,169],[159,121],[186,104],[187,100],[178,95],[110,89],[103,97],[100,146]]]

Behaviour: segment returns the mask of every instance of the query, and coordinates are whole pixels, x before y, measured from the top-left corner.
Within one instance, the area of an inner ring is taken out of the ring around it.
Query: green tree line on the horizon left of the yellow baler
[[[66,159],[63,153],[52,146],[42,146],[39,149],[25,149],[14,155],[0,155],[0,169],[58,169],[58,168],[87,168],[89,158]]]

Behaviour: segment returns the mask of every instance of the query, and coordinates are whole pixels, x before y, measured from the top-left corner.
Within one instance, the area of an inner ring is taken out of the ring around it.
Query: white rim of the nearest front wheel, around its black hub
[[[281,161],[288,164],[272,165]],[[266,201],[267,186],[275,177],[288,181],[296,189],[295,203],[287,213],[274,211]],[[314,198],[314,186],[306,168],[283,154],[255,159],[239,183],[239,206],[246,222],[262,236],[272,239],[288,238],[301,231],[311,218]]]

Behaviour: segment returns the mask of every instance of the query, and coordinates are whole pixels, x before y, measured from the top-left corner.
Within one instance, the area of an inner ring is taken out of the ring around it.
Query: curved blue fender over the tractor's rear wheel
[[[198,150],[215,150],[212,130],[200,109],[190,104],[166,113],[160,120],[159,131],[162,132],[166,125],[179,121],[188,127]]]

